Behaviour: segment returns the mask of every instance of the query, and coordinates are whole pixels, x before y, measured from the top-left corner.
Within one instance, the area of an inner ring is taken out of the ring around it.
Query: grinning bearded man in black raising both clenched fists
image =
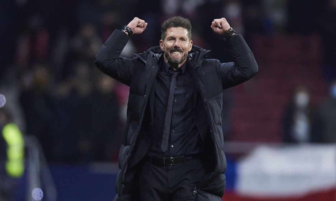
[[[130,86],[115,200],[221,200],[222,90],[257,73],[253,54],[221,18],[211,29],[223,35],[234,62],[206,59],[209,51],[193,45],[190,21],[172,17],[162,24],[160,46],[119,57],[129,37],[146,27],[135,17],[96,55],[102,72]]]

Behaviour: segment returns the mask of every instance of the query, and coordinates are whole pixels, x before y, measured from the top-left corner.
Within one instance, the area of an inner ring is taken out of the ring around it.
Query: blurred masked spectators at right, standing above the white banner
[[[287,143],[336,143],[336,80],[319,105],[311,104],[309,89],[298,86],[283,116],[283,141]]]

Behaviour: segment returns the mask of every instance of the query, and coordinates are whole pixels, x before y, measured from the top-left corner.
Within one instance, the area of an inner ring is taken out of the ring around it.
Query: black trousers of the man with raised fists
[[[205,175],[199,158],[164,166],[153,165],[144,160],[137,174],[142,201],[222,200],[218,196],[195,189]]]

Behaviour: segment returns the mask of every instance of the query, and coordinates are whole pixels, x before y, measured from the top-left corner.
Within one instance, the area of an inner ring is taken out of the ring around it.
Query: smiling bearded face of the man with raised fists
[[[192,46],[193,41],[189,40],[188,31],[182,27],[167,29],[166,38],[160,40],[161,50],[164,51],[165,59],[169,64],[182,65]]]

